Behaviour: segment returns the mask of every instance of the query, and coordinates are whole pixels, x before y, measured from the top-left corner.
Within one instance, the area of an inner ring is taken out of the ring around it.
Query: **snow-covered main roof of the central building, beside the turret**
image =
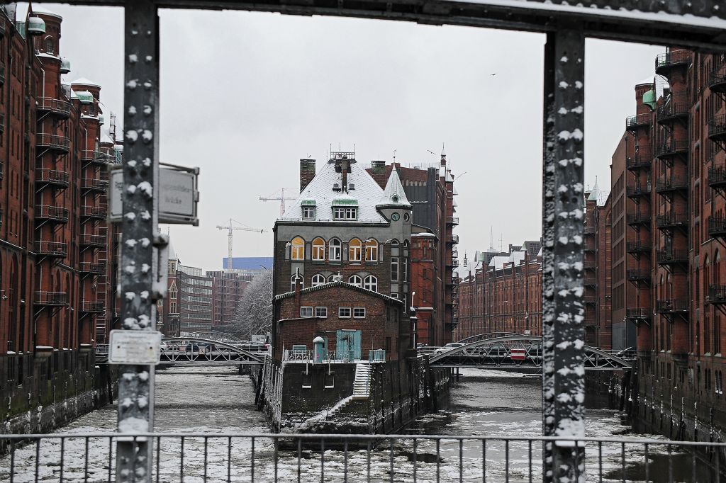
[[[327,162],[322,170],[315,175],[308,186],[303,189],[302,193],[292,205],[287,207],[285,213],[280,217],[283,221],[333,221],[333,200],[343,205],[343,200],[355,199],[358,203],[358,219],[348,221],[365,221],[367,223],[388,223],[386,218],[378,212],[376,204],[383,196],[383,190],[380,189],[378,183],[363,168],[359,168],[358,164],[351,162],[351,172],[347,174],[348,186],[354,185],[354,189],[349,189],[348,194],[338,190],[333,190],[333,185],[337,183],[340,187],[342,180],[341,173],[335,172],[335,161]],[[311,200],[315,201],[315,220],[303,220],[303,201],[309,204]],[[345,220],[340,220],[344,223]]]

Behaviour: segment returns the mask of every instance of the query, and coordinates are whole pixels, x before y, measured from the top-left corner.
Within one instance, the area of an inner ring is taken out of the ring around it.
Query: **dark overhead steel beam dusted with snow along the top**
[[[117,5],[123,0],[70,0]],[[622,41],[726,49],[722,0],[158,0],[158,7],[332,15],[549,32],[577,22],[585,35]]]

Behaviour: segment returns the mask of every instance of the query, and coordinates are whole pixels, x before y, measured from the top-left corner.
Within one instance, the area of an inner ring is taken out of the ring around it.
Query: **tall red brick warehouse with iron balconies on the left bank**
[[[106,381],[92,347],[118,318],[117,236],[106,218],[107,169],[121,146],[113,122],[110,133],[102,128],[100,86],[61,80],[70,72],[61,23],[39,7],[0,9],[3,431],[29,407],[41,409],[23,428],[51,429],[99,402]],[[56,387],[76,397],[73,409],[56,411]]]

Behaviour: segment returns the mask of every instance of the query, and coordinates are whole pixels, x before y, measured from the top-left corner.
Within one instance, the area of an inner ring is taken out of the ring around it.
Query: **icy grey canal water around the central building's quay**
[[[499,371],[466,369],[452,387],[447,410],[419,418],[410,434],[447,434],[478,437],[505,434],[535,437],[541,434],[541,381],[539,377]],[[155,430],[157,432],[268,433],[264,416],[253,405],[254,390],[248,376],[235,368],[176,367],[158,371],[156,379]],[[68,424],[59,432],[113,432],[116,408],[94,411]],[[595,410],[587,413],[587,436],[611,437],[629,434],[619,413]],[[632,434],[629,434],[632,435]],[[650,437],[650,436],[649,436]],[[541,446],[534,442],[481,439],[460,444],[455,439],[382,442],[367,450],[281,450],[274,452],[272,439],[185,438],[162,439],[159,447],[160,482],[247,482],[277,479],[293,482],[372,481],[394,482],[511,482],[542,481]],[[437,447],[438,446],[438,447]],[[206,451],[205,451],[206,448]],[[113,472],[113,445],[107,440],[83,439],[64,442],[61,465],[60,442],[46,441],[39,447],[26,445],[15,452],[15,482],[36,480],[36,451],[40,459],[38,481],[105,482]],[[636,445],[589,446],[587,481],[645,481],[643,448]],[[180,455],[184,454],[183,461]],[[531,458],[530,458],[531,454]],[[602,458],[599,455],[602,454]],[[624,465],[623,465],[624,455]],[[650,447],[650,481],[668,481],[669,461],[663,447]],[[299,456],[299,458],[298,458]],[[84,468],[88,460],[89,473]],[[531,462],[531,464],[530,464]],[[674,481],[690,481],[690,456],[672,456]],[[9,456],[0,459],[0,482],[9,481]],[[277,463],[277,464],[275,464]],[[484,464],[483,464],[484,463]],[[347,468],[347,471],[346,471]],[[391,468],[393,472],[391,473]],[[602,479],[600,479],[600,476]],[[705,480],[701,480],[705,481]]]

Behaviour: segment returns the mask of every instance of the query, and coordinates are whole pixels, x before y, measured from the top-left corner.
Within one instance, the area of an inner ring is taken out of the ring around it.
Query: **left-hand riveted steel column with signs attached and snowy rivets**
[[[155,330],[158,181],[159,31],[155,2],[127,0],[123,95],[122,325]],[[118,432],[151,432],[154,366],[119,366]],[[119,437],[116,481],[149,482],[152,441]]]

